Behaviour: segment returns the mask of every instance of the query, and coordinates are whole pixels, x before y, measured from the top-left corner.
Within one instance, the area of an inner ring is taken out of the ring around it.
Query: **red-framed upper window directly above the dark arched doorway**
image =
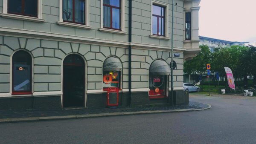
[[[84,0],[63,0],[62,11],[64,22],[85,24]]]

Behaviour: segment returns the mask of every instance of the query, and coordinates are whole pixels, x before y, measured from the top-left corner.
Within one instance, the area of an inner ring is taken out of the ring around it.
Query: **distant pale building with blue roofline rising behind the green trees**
[[[209,49],[211,52],[215,52],[215,48],[221,47],[230,47],[230,46],[244,46],[245,43],[249,42],[238,42],[238,41],[227,41],[227,40],[220,40],[215,38],[209,38],[209,37],[202,37],[199,36],[200,42],[199,45],[207,45],[209,46]]]

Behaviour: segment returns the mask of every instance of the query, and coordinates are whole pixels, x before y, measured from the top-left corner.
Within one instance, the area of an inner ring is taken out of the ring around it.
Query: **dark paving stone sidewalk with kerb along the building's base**
[[[118,107],[111,108],[81,108],[81,109],[57,109],[57,110],[0,110],[0,119],[3,118],[33,118],[33,117],[52,117],[67,115],[90,115],[113,112],[139,112],[139,111],[159,111],[159,110],[180,110],[182,109],[206,109],[208,104],[189,101],[189,106],[151,106],[151,107]]]

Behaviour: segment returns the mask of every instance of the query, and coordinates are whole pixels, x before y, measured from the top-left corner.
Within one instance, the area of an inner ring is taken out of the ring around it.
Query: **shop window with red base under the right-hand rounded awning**
[[[166,96],[167,75],[149,75],[149,98]]]

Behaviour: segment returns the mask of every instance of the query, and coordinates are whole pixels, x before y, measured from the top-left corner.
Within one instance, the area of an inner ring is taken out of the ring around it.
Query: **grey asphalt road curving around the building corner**
[[[0,124],[0,143],[256,143],[256,100],[190,98],[197,112]]]

